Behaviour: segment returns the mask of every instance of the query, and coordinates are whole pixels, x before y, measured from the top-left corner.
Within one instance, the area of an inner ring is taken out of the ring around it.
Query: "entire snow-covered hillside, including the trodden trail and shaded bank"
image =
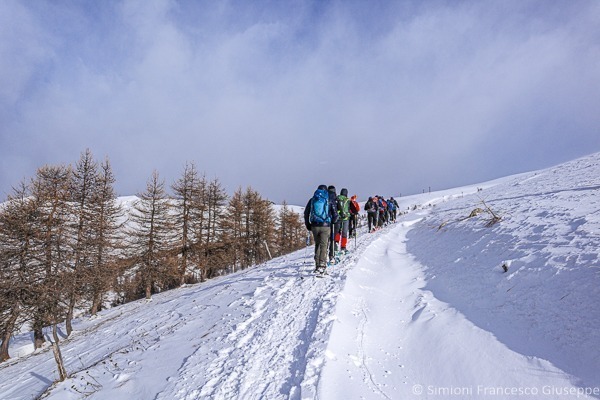
[[[310,247],[79,319],[70,379],[21,355],[0,399],[600,398],[598,177],[595,154],[402,198],[329,277]]]

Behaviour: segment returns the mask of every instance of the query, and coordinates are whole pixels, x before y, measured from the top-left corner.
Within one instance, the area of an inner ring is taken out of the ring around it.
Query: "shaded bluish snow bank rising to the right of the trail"
[[[486,213],[463,219],[482,200],[502,218],[493,227]],[[439,204],[407,250],[436,298],[510,349],[600,386],[599,210],[596,154]]]

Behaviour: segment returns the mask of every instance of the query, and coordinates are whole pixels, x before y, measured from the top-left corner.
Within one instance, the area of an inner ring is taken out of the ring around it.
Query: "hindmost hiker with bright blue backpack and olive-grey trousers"
[[[335,201],[330,200],[327,186],[320,185],[304,209],[304,225],[312,232],[315,241],[315,272],[317,273],[323,274],[326,271],[331,227],[337,222],[337,218]]]

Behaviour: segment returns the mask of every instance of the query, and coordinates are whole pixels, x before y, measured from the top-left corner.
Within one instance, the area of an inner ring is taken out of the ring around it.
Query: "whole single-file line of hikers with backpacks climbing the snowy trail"
[[[396,221],[398,202],[391,197],[369,197],[365,211],[369,232]],[[356,237],[360,204],[356,195],[348,198],[348,189],[338,195],[335,186],[319,185],[304,209],[304,224],[315,242],[315,272],[324,274],[337,254],[348,253],[349,237]]]

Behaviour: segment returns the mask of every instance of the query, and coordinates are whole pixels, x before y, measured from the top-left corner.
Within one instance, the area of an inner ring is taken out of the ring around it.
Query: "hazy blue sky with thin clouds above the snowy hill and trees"
[[[303,205],[600,151],[600,2],[0,2],[0,197],[108,157],[119,195],[186,162]]]

